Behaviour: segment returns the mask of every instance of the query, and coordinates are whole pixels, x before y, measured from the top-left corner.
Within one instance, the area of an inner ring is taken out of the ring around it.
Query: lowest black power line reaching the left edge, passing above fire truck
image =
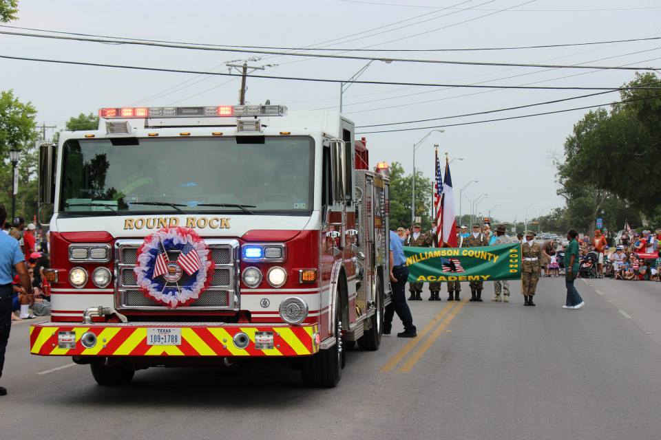
[[[116,65],[104,63],[86,63],[83,61],[64,61],[64,60],[49,60],[45,58],[29,58],[23,56],[9,56],[0,55],[0,58],[18,61],[36,61],[39,63],[54,63],[66,65],[82,65],[90,67],[109,67],[113,69],[132,69],[132,70],[145,70],[150,72],[169,72],[176,74],[204,74],[214,76],[242,76],[240,74],[224,74],[222,72],[202,72],[199,70],[183,70],[183,69],[166,69],[164,67],[143,67],[131,65]],[[368,80],[340,80],[330,78],[304,78],[297,76],[275,76],[275,75],[253,75],[247,74],[246,77],[250,78],[264,78],[274,80],[291,80],[291,81],[308,81],[312,83],[353,83],[353,84],[372,84],[372,85],[415,85],[424,87],[464,87],[470,89],[527,89],[527,90],[629,90],[635,87],[567,87],[567,86],[516,86],[516,85],[471,85],[471,84],[439,84],[439,83],[404,83],[396,81],[368,81]],[[661,87],[649,87],[643,90],[661,90]]]

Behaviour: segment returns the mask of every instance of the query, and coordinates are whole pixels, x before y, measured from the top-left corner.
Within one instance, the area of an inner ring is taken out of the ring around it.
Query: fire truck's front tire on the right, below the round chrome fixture
[[[339,298],[338,298],[339,299]],[[319,353],[306,359],[301,372],[303,384],[315,388],[334,388],[342,378],[342,303],[337,303],[333,316],[335,329],[335,345],[330,349],[320,350]]]

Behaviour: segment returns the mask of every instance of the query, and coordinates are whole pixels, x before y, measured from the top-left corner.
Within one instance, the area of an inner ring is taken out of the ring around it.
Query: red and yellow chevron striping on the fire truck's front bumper
[[[180,345],[147,344],[148,328],[181,329]],[[76,348],[58,347],[58,332],[73,331]],[[96,335],[96,346],[83,347],[81,336],[87,331]],[[256,332],[272,332],[273,348],[255,347]],[[250,342],[244,349],[235,347],[233,338],[243,332]],[[43,323],[30,327],[30,353],[48,356],[305,356],[319,351],[318,325],[162,325],[122,324],[59,325]]]

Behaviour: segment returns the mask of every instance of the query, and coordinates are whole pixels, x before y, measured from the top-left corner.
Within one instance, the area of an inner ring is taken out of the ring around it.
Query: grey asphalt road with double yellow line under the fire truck
[[[490,301],[489,283],[481,304],[412,303],[419,338],[347,353],[330,390],[264,362],[102,388],[88,366],[28,354],[19,323],[0,438],[659,439],[661,283],[577,281],[577,311],[560,307],[563,278],[541,280],[537,307],[511,284],[509,304]]]

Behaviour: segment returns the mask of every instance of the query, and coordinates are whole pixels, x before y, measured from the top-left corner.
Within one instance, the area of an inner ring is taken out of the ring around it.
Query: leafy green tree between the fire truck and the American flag
[[[390,165],[390,228],[399,226],[408,228],[411,225],[411,194],[413,176],[404,175],[404,169],[399,162]],[[432,227],[430,206],[432,197],[432,182],[420,171],[415,177],[415,215],[421,217],[423,230]]]

